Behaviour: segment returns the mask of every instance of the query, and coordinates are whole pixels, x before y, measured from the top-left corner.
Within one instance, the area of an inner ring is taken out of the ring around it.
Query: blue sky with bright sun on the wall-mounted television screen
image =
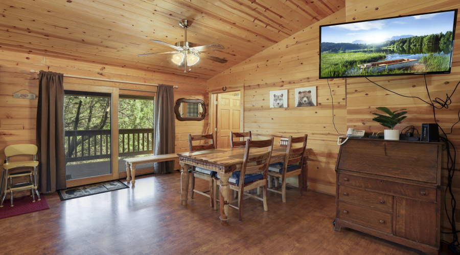
[[[454,12],[424,14],[321,28],[321,42],[381,42],[393,36],[430,35],[452,31]]]

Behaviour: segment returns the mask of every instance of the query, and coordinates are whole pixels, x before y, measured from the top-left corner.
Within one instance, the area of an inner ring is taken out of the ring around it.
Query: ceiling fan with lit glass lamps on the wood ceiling
[[[150,40],[152,42],[156,42],[159,44],[163,44],[165,46],[171,47],[175,49],[175,51],[172,52],[158,52],[158,53],[148,53],[148,54],[141,54],[137,55],[137,57],[141,56],[147,56],[147,55],[153,55],[153,54],[173,54],[172,56],[172,62],[179,67],[186,67],[186,65],[189,66],[189,71],[190,66],[198,63],[200,58],[202,59],[208,59],[217,63],[227,63],[226,59],[219,58],[216,56],[212,56],[206,53],[202,53],[206,50],[219,50],[219,49],[224,49],[225,47],[220,45],[220,44],[209,44],[209,45],[202,45],[202,46],[196,46],[195,43],[188,42],[187,41],[187,28],[190,27],[191,22],[187,19],[179,21],[180,27],[182,27],[185,31],[185,41],[181,42],[176,42],[174,45],[162,42],[162,41],[157,41],[157,40]],[[187,70],[184,70],[183,72],[187,72]]]

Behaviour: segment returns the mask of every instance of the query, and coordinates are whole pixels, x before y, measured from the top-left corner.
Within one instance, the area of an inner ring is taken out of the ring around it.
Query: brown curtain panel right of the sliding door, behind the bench
[[[160,84],[155,98],[154,115],[155,155],[174,153],[176,125],[174,117],[173,86]],[[154,163],[154,173],[169,173],[174,170],[174,160]]]

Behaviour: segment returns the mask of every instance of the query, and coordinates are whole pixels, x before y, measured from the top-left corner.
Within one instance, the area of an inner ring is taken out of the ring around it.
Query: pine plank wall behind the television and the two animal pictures
[[[335,194],[334,167],[337,160],[337,133],[332,125],[332,102],[326,80],[318,80],[319,25],[354,20],[393,17],[431,11],[460,8],[457,0],[447,1],[401,1],[347,0],[346,8],[305,28],[301,32],[273,45],[246,61],[208,80],[210,93],[218,93],[222,86],[227,91],[244,88],[244,131],[252,131],[260,137],[308,134],[307,146],[312,149],[308,162],[309,189]],[[456,39],[460,38],[460,23],[457,19]],[[455,43],[451,74],[427,75],[427,84],[432,99],[445,98],[460,81],[460,44]],[[428,101],[423,76],[373,78],[372,81],[395,92],[419,96]],[[415,125],[420,131],[422,123],[433,123],[433,111],[419,99],[404,98],[387,92],[364,78],[331,79],[329,84],[334,99],[334,121],[342,134],[347,127],[379,132],[383,127],[372,121],[375,108],[386,106],[390,109],[406,108],[407,118],[396,129]],[[318,106],[296,108],[294,89],[317,86]],[[288,89],[289,107],[269,108],[269,91]],[[458,120],[460,91],[452,97],[449,109],[436,110],[436,120],[450,132],[450,126]],[[460,150],[460,125],[454,126],[449,139]],[[416,152],[415,152],[416,153]],[[444,157],[442,173],[443,191],[447,180]],[[457,162],[456,169],[460,164]],[[460,199],[460,177],[453,180],[453,191]],[[450,198],[448,198],[450,199]],[[460,221],[457,207],[456,221]],[[444,211],[442,227],[449,229]],[[457,229],[460,227],[457,223]],[[443,234],[442,239],[450,240],[451,235]]]

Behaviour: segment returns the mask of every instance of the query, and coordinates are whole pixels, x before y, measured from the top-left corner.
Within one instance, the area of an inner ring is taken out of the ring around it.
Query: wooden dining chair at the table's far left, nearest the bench
[[[206,143],[202,144],[201,141],[205,141]],[[199,143],[199,144],[198,144]],[[214,135],[191,135],[189,134],[189,148],[190,151],[200,151],[200,150],[207,150],[207,149],[215,149],[215,142],[214,142]],[[193,198],[194,193],[198,193],[210,198],[211,207],[214,207],[214,193],[216,186],[214,185],[214,177],[216,175],[216,171],[212,171],[209,169],[201,168],[201,167],[192,167],[192,192],[191,198]],[[195,190],[195,177],[200,179],[206,180],[209,182],[209,194],[204,192]]]

